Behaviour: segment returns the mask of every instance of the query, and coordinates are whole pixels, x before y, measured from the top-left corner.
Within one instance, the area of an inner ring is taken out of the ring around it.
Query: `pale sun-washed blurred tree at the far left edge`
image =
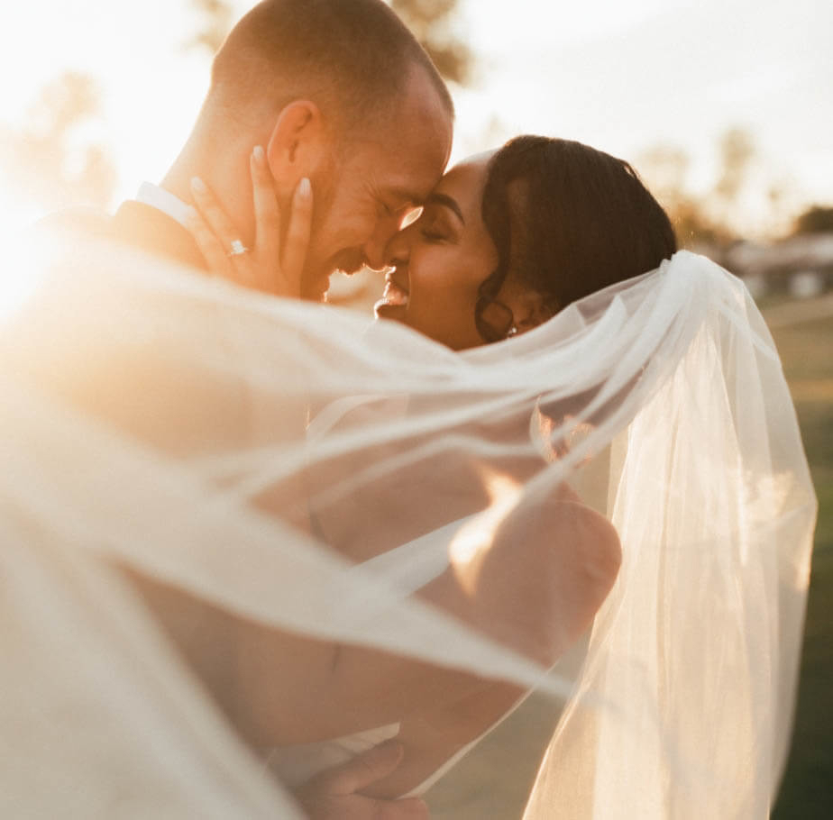
[[[41,207],[85,202],[105,207],[115,169],[94,136],[100,114],[95,81],[68,71],[44,87],[23,126],[0,133],[10,187]]]

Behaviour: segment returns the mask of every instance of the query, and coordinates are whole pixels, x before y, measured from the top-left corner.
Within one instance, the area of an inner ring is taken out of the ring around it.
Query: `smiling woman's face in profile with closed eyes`
[[[417,222],[388,245],[387,287],[379,316],[396,319],[453,350],[483,344],[474,321],[481,283],[498,267],[498,250],[481,216],[490,155],[450,170],[426,199]]]

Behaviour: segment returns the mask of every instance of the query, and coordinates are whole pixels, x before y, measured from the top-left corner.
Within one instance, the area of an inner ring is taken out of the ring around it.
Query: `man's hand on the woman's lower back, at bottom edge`
[[[417,797],[378,800],[360,794],[396,770],[404,751],[397,741],[380,743],[311,779],[298,790],[298,802],[309,820],[428,820],[428,808]]]

